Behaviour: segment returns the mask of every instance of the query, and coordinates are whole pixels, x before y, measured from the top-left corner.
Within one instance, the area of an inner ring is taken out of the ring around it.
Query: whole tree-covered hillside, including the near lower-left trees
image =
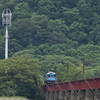
[[[100,76],[99,0],[0,0],[0,23],[5,8],[12,25],[6,61],[0,24],[0,96],[43,100],[37,82],[48,71],[57,81]]]

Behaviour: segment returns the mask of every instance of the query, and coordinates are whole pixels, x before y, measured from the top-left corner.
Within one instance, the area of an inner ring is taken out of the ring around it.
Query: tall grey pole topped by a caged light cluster
[[[11,25],[12,13],[10,9],[6,8],[2,12],[2,25],[6,28],[5,33],[5,59],[8,59],[8,26]]]

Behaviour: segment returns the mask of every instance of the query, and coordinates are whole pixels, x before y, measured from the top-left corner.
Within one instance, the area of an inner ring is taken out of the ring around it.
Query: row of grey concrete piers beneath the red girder
[[[100,89],[49,91],[46,100],[100,100]]]

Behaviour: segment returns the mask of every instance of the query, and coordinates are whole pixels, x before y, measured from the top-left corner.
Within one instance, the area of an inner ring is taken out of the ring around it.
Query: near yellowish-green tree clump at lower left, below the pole
[[[0,60],[0,96],[41,99],[38,83],[43,85],[37,60],[29,55]]]

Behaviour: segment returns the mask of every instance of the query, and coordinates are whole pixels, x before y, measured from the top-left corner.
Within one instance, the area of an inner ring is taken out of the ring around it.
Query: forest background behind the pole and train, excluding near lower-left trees
[[[85,59],[85,77],[100,76],[99,0],[0,0],[1,62],[5,51],[5,8],[12,12],[10,58],[29,54],[38,59],[41,75],[56,70],[63,81],[73,76],[82,79]]]

